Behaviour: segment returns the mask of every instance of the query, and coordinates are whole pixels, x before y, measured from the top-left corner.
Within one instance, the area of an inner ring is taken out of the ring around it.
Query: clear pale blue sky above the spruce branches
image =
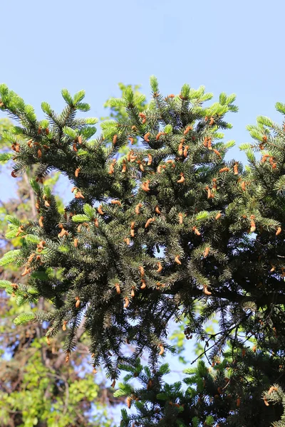
[[[154,74],[165,95],[183,83],[205,85],[214,100],[236,93],[227,137],[237,146],[257,115],[281,122],[284,0],[6,0],[0,16],[0,82],[40,118],[43,100],[61,110],[62,88],[85,89],[90,115],[100,117],[118,82],[140,83],[149,96]],[[232,157],[244,159],[237,148]],[[0,199],[7,196],[2,175]]]

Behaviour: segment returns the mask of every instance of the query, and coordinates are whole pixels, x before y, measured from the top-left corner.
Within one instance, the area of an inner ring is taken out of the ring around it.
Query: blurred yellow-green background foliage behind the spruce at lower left
[[[2,130],[11,129],[11,122],[0,122]],[[10,145],[0,139],[1,158],[5,159]],[[9,157],[9,156],[8,156]],[[8,158],[7,157],[7,158]],[[3,167],[4,171],[7,167]],[[3,173],[1,171],[1,173]],[[32,174],[32,172],[29,172]],[[13,178],[11,178],[13,179]],[[5,178],[5,181],[8,181]],[[46,183],[53,188],[58,175],[48,176]],[[13,199],[1,200],[0,238],[1,256],[9,250],[21,247],[19,236],[9,239],[5,236],[9,215],[15,214],[23,223],[28,218],[36,219],[33,189],[25,172],[16,181]],[[57,198],[59,209],[62,202]],[[82,333],[78,351],[73,356],[73,364],[66,364],[62,352],[64,332],[46,342],[48,328],[44,323],[28,322],[15,328],[14,318],[24,310],[44,307],[51,310],[51,304],[38,301],[30,295],[30,302],[16,297],[16,284],[26,285],[27,276],[21,278],[21,270],[15,265],[1,268],[0,276],[0,420],[1,427],[38,426],[110,426],[112,416],[107,405],[118,404],[113,399],[105,379],[95,384],[92,369],[88,366],[88,343]],[[7,283],[14,285],[7,287]],[[6,292],[4,289],[6,288]],[[84,376],[83,376],[84,375]]]

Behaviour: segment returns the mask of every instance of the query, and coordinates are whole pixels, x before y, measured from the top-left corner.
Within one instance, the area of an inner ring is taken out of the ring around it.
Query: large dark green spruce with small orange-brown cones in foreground
[[[38,221],[11,218],[11,233],[23,244],[1,263],[23,265],[36,295],[54,305],[53,312],[25,313],[16,323],[47,320],[48,339],[64,325],[67,362],[84,323],[95,371],[103,362],[115,385],[120,369],[128,369],[122,394],[131,393],[131,377],[146,382],[141,396],[129,396],[139,416],[133,421],[123,413],[123,426],[282,426],[284,127],[266,117],[249,127],[257,144],[243,147],[244,169],[226,162],[234,142],[222,141],[221,130],[231,127],[224,116],[237,111],[234,95],[222,93],[206,107],[212,94],[203,87],[183,85],[180,94],[164,97],[157,80],[150,83],[144,111],[138,108],[144,98],[131,88],[109,101],[128,115],[103,122],[95,139],[96,120],[76,117],[89,109],[83,91],[72,97],[63,90],[60,115],[43,102],[46,119],[38,121],[30,105],[1,85],[1,109],[20,122],[6,133],[12,175],[36,165],[31,184],[38,209]],[[284,105],[277,108],[285,113]],[[44,184],[53,169],[73,185],[63,215]],[[219,330],[209,334],[204,325],[216,314]],[[185,336],[204,342],[212,364],[187,371],[194,377],[186,384],[196,386],[185,393],[180,384],[163,389],[167,367],[159,368],[174,350],[167,325],[182,317]],[[138,357],[145,351],[150,369],[143,374]]]

